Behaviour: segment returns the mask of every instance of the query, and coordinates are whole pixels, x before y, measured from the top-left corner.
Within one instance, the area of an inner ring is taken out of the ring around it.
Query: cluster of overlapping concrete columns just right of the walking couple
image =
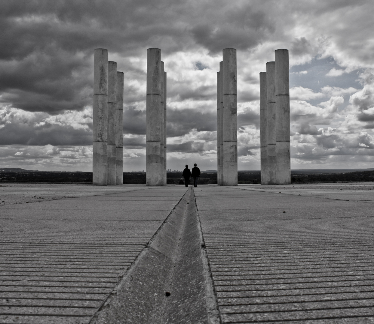
[[[224,49],[217,72],[217,180],[237,186],[236,49]]]

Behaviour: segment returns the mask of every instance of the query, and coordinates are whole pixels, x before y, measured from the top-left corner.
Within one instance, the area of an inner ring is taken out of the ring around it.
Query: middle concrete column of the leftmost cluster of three
[[[116,185],[116,106],[117,62],[108,62],[108,114],[107,114],[107,185]]]

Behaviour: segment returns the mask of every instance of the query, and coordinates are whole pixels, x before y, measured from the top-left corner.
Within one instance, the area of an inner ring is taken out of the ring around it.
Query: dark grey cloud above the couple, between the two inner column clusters
[[[182,136],[191,130],[217,131],[217,113],[197,109],[168,109],[168,137]]]

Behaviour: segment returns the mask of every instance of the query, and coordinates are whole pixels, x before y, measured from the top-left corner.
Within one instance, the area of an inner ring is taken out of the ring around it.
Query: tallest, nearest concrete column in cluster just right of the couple
[[[237,186],[236,49],[223,50],[223,185]]]

